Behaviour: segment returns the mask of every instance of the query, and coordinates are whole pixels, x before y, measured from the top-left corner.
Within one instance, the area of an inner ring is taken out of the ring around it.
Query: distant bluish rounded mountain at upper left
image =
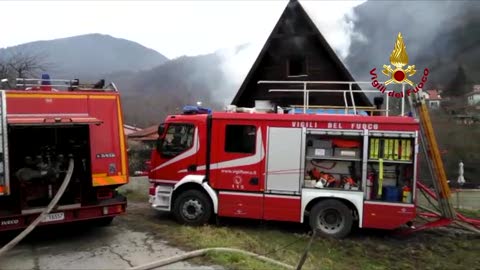
[[[109,35],[87,34],[35,41],[0,49],[0,58],[15,52],[39,55],[52,78],[98,80],[104,74],[151,69],[168,61],[155,50]]]

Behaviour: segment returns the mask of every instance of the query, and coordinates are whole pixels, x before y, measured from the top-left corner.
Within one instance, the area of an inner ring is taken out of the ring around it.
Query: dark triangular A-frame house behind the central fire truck
[[[253,107],[255,100],[278,106],[303,105],[303,93],[270,89],[302,89],[299,84],[258,84],[258,81],[354,81],[351,74],[296,0],[283,11],[232,104]],[[347,85],[309,85],[309,89],[348,89]],[[359,89],[355,86],[355,89]],[[364,93],[354,94],[356,106],[372,107]],[[350,99],[349,99],[350,101]],[[309,104],[344,106],[343,91],[311,93]],[[349,103],[351,105],[351,103]]]

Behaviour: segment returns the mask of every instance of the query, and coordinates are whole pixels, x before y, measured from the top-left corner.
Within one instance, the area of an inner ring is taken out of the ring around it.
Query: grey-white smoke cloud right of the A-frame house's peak
[[[354,77],[368,79],[371,68],[389,64],[401,32],[409,64],[420,69],[446,66],[442,61],[452,56],[446,54],[459,50],[462,42],[455,29],[462,29],[468,21],[465,14],[478,7],[468,1],[368,1],[350,18],[353,35],[345,63]]]

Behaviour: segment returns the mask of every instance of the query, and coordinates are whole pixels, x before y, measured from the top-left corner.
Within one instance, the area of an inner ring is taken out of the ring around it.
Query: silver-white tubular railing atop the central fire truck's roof
[[[379,93],[380,91],[376,88],[373,88],[372,82],[356,82],[356,81],[258,81],[258,84],[300,84],[303,85],[302,89],[269,89],[269,92],[297,92],[297,93],[303,93],[303,112],[306,113],[309,108],[314,108],[314,107],[322,107],[322,106],[315,106],[315,105],[310,105],[310,93],[343,93],[343,101],[344,101],[344,106],[343,108],[345,109],[345,113],[348,112],[348,110],[353,109],[353,112],[356,114],[357,113],[357,108],[358,106],[355,105],[355,99],[353,96],[353,93]],[[348,85],[348,90],[346,89],[308,89],[308,85],[332,85],[332,84],[337,84],[337,85]],[[364,89],[364,90],[353,90],[353,85],[362,85],[362,84],[367,84],[369,85],[370,89]],[[379,84],[384,84],[384,82],[379,82]],[[386,116],[389,116],[389,101],[390,101],[390,96],[388,93],[390,92],[395,92],[393,90],[385,90],[383,94],[386,96],[386,102],[385,102],[385,110],[376,110],[376,111],[385,111]],[[350,100],[352,105],[348,105],[348,98],[347,94],[350,96]],[[405,84],[402,84],[402,98],[401,98],[401,116],[405,116]],[[328,108],[332,108],[334,106],[324,106]]]

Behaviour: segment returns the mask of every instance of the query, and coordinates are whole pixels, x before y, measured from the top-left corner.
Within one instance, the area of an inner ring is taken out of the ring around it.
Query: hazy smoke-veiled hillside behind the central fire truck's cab
[[[113,73],[106,80],[120,88],[126,122],[148,126],[197,101],[218,108],[215,95],[225,85],[220,66],[216,54],[180,57],[148,71]]]

